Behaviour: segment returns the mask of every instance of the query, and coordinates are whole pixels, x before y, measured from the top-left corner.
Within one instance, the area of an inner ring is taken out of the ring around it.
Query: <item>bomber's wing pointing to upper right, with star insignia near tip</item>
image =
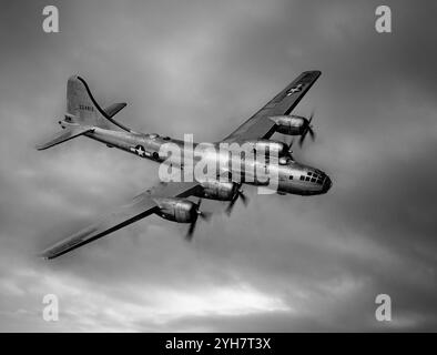
[[[275,123],[268,118],[289,114],[321,74],[318,70],[303,72],[223,142],[243,143],[248,140],[271,138],[275,132]]]

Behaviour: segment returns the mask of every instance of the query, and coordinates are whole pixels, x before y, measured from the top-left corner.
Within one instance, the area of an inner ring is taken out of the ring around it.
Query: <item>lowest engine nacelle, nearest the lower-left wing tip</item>
[[[156,214],[165,220],[177,223],[191,223],[197,217],[197,205],[185,199],[155,199],[159,211]]]

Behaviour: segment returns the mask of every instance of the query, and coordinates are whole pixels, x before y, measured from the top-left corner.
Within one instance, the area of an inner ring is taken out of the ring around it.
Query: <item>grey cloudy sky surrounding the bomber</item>
[[[384,1],[1,1],[0,331],[437,329],[437,6]],[[4,3],[3,3],[4,2]],[[55,4],[60,33],[42,31]],[[65,83],[143,132],[227,135],[304,70],[295,113],[317,140],[295,158],[328,194],[217,202],[193,243],[157,216],[60,258],[35,252],[157,181],[157,166],[81,138],[48,151]],[[42,298],[59,297],[59,322]],[[375,320],[392,297],[393,321]]]

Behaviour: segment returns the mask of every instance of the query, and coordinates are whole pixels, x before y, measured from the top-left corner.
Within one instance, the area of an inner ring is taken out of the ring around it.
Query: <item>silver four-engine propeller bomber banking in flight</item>
[[[273,164],[267,156],[265,169],[275,170],[277,173],[276,192],[280,194],[323,194],[332,185],[331,179],[321,170],[294,161],[291,154],[291,144],[270,140],[275,132],[285,135],[301,135],[301,144],[307,133],[314,138],[311,125],[312,118],[308,120],[303,116],[291,115],[291,112],[319,75],[319,71],[303,72],[252,118],[218,142],[250,143],[255,154],[257,150],[262,152],[277,151],[278,163]],[[95,102],[87,82],[80,77],[71,77],[67,84],[67,113],[64,120],[59,121],[63,131],[47,143],[38,145],[37,149],[44,150],[73,138],[85,135],[108,146],[115,146],[160,163],[166,158],[161,155],[160,148],[163,144],[171,142],[183,150],[183,141],[159,134],[134,132],[116,122],[113,116],[125,105],[125,103],[115,103],[102,109]],[[218,143],[212,144],[216,146]],[[196,146],[196,143],[193,146]],[[215,155],[209,156],[205,156],[205,159],[216,159]],[[179,168],[183,170],[184,166]],[[236,181],[233,178],[234,173],[240,174],[240,172],[232,171],[232,168],[225,170],[220,168],[214,179],[191,182],[161,182],[135,196],[132,202],[120,210],[47,248],[41,253],[41,256],[54,258],[152,213],[170,221],[190,223],[187,236],[191,236],[199,216],[207,216],[206,213],[200,211],[201,199],[230,201],[227,209],[227,212],[230,212],[238,197],[242,197],[245,202],[241,189],[243,183],[265,184],[258,181],[256,176],[250,182],[244,179],[244,175],[241,181]],[[223,174],[228,176],[227,181],[218,179],[223,178]],[[200,197],[199,203],[187,200],[189,196]]]

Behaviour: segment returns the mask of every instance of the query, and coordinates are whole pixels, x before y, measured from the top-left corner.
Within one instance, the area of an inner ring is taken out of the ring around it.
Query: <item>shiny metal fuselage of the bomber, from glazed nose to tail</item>
[[[228,159],[226,153],[226,158],[221,155],[221,151],[218,150],[220,143],[192,143],[186,144],[186,142],[181,140],[174,140],[169,136],[161,136],[159,134],[144,134],[136,132],[123,132],[123,131],[112,131],[105,130],[101,128],[95,128],[93,132],[87,133],[87,136],[96,140],[106,144],[110,148],[118,148],[120,150],[126,151],[129,153],[139,155],[144,159],[152,160],[157,163],[165,163],[170,165],[174,165],[177,169],[183,169],[181,166],[182,162],[192,161],[195,164],[196,161],[203,160],[209,163],[209,166],[215,164],[216,171],[215,176],[221,176],[223,174],[230,174],[231,176],[238,175],[238,179],[243,183],[252,184],[252,185],[267,185],[268,181],[256,175],[256,173],[247,176],[241,175],[241,170],[235,169],[235,166],[241,166],[242,159],[232,158]],[[163,156],[162,154],[163,145],[166,143],[175,144],[173,146],[179,146],[181,156]],[[206,146],[205,149],[203,146]],[[213,150],[211,148],[214,148]],[[194,153],[195,152],[195,153]],[[227,164],[223,163],[223,161]],[[235,159],[237,161],[235,161]],[[260,162],[254,159],[245,159],[245,166],[250,166],[252,169],[246,169],[245,171],[256,172],[256,169],[265,169],[270,175],[277,176],[277,186],[276,192],[278,194],[297,194],[297,195],[316,195],[326,193],[332,186],[332,181],[327,174],[322,172],[318,169],[301,164],[289,158],[283,158],[281,163],[268,162],[268,160],[262,160],[263,166],[260,165]],[[182,178],[184,174],[181,174]],[[263,176],[265,178],[265,175]],[[183,181],[183,180],[182,180]]]

